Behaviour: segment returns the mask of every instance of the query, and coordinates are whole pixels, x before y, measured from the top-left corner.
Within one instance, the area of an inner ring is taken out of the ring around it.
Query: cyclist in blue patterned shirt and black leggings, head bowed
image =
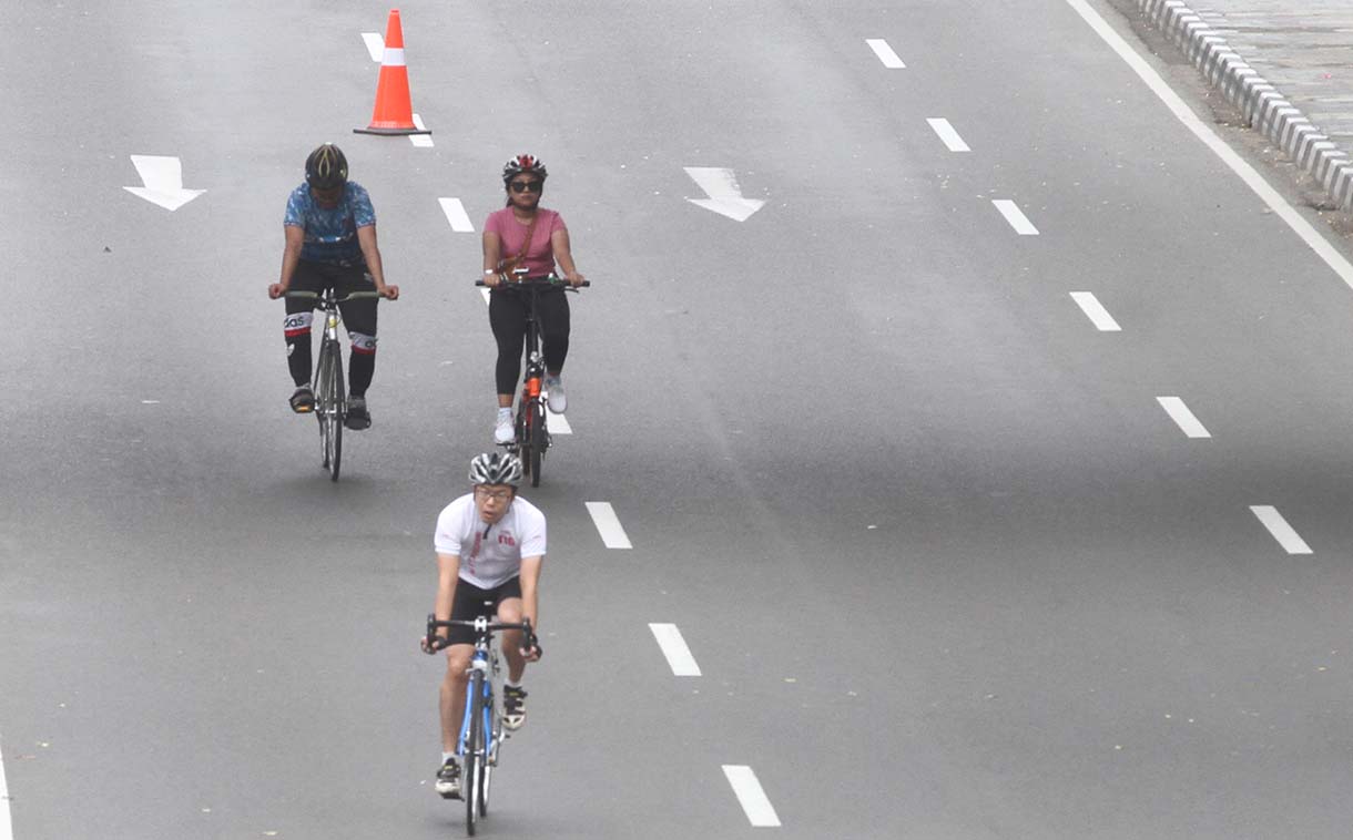
[[[323,292],[333,287],[342,298],[359,291],[376,291],[395,300],[398,285],[386,285],[376,248],[376,211],[371,196],[348,180],[348,158],[333,143],[325,143],[306,158],[306,183],[291,191],[283,218],[287,246],[281,254],[281,279],[268,287],[277,299],[288,291]],[[376,302],[340,303],[352,356],[348,360],[348,417],[353,430],[371,426],[367,388],[376,369]],[[315,409],[310,386],[310,326],[314,303],[288,298],[284,331],[287,367],[296,384],[291,410],[307,414]]]

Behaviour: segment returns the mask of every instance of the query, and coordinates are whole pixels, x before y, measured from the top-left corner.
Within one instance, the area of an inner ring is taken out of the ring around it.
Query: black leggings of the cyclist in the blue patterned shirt
[[[302,260],[296,264],[296,273],[291,277],[288,291],[323,292],[330,285],[334,287],[337,298],[349,292],[376,291],[376,283],[360,258],[346,265]],[[291,368],[291,379],[298,386],[310,381],[310,323],[314,319],[311,311],[314,306],[310,300],[287,298],[284,327],[287,367]],[[363,396],[376,372],[376,302],[340,303],[338,311],[342,314],[344,326],[348,327],[348,338],[352,340],[352,354],[348,357],[348,391],[353,396]]]

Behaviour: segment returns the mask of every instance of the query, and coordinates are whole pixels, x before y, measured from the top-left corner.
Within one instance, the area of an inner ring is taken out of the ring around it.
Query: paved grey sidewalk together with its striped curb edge
[[[1345,210],[1353,210],[1353,0],[1138,0]]]

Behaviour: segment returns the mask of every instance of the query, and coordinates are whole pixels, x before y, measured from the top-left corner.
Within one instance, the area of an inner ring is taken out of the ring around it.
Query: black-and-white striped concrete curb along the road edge
[[[1137,0],[1137,4],[1252,129],[1319,181],[1338,207],[1353,210],[1353,161],[1346,151],[1330,142],[1183,0]]]

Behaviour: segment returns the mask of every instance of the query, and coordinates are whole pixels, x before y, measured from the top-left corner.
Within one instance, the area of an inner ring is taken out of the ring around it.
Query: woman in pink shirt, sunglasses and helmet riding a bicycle
[[[521,373],[522,348],[526,341],[526,300],[511,288],[513,271],[526,269],[528,277],[544,277],[563,271],[570,285],[582,285],[568,248],[568,229],[553,210],[540,207],[545,185],[545,165],[529,154],[520,154],[503,166],[503,189],[507,206],[488,214],[484,222],[484,285],[488,292],[488,325],[498,341],[498,421],[494,441],[510,444],[517,438],[511,419],[511,399]],[[540,294],[541,340],[545,345],[545,394],[549,410],[563,414],[568,402],[559,375],[568,354],[568,298],[563,288]]]

